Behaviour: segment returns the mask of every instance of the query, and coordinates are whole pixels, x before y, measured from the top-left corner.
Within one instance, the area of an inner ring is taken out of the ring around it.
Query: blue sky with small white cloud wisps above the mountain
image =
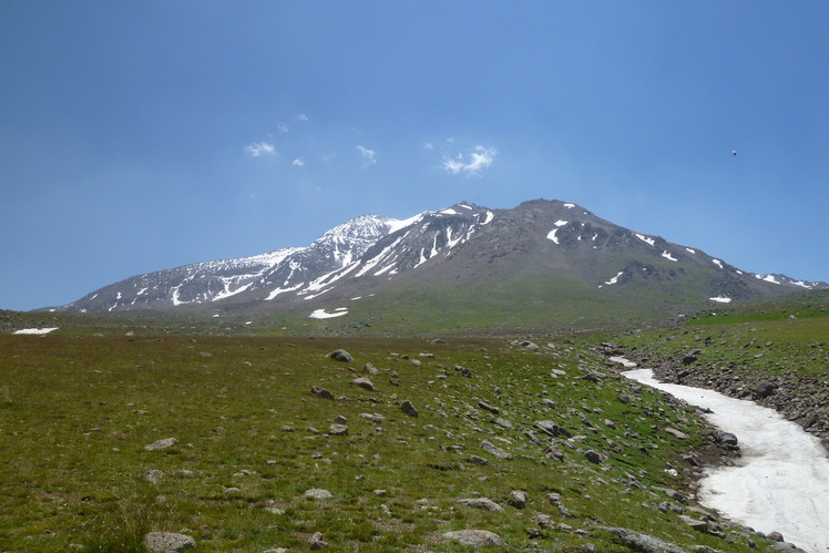
[[[538,197],[829,280],[827,24],[776,0],[0,2],[0,307]]]

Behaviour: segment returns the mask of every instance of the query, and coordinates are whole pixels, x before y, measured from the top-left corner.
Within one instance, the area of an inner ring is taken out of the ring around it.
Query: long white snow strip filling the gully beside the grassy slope
[[[737,436],[741,457],[735,467],[707,471],[700,503],[756,531],[780,532],[806,551],[829,551],[829,458],[817,438],[751,401],[659,382],[649,369],[623,375],[709,409],[712,424]]]

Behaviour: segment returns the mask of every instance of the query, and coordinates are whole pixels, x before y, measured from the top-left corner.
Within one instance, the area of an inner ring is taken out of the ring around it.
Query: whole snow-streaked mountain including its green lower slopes
[[[499,325],[556,316],[590,322],[608,310],[665,316],[827,287],[744,272],[575,204],[536,199],[513,209],[461,203],[406,221],[362,215],[306,247],[135,276],[55,310],[180,307],[303,318],[362,310],[362,318],[388,319],[393,306],[401,318],[458,326],[487,317],[503,319]]]

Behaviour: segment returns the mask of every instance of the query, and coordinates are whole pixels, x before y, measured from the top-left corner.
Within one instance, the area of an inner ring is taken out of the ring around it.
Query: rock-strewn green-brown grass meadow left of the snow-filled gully
[[[533,352],[500,339],[122,330],[0,335],[0,550],[142,551],[147,531],[176,531],[204,551],[304,549],[315,532],[336,551],[465,551],[441,535],[482,529],[514,551],[624,551],[601,525],[685,546],[750,549],[739,533],[695,532],[658,509],[673,503],[664,489],[684,489],[664,469],[683,467],[682,455],[703,443],[702,422],[634,388],[590,344],[554,340]],[[328,359],[336,348],[355,361]],[[351,383],[367,362],[380,370],[373,392]],[[582,378],[593,370],[606,377]],[[402,413],[405,399],[419,417]],[[342,420],[348,434],[329,436]],[[545,437],[538,420],[573,438]],[[692,438],[678,440],[666,426]],[[171,437],[174,447],[145,450]],[[485,452],[484,440],[512,459]],[[563,461],[545,455],[550,446]],[[586,461],[591,449],[601,464]],[[152,470],[164,474],[157,483],[146,480]],[[306,499],[311,488],[334,496]],[[525,509],[509,506],[512,490],[529,493]],[[561,494],[570,514],[549,493]],[[504,511],[458,504],[471,496]],[[556,525],[531,537],[538,513]]]

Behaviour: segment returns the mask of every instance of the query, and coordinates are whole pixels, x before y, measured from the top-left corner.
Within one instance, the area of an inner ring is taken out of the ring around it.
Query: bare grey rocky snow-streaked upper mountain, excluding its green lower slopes
[[[600,296],[641,293],[647,287],[688,287],[706,290],[703,301],[827,286],[741,272],[696,248],[614,225],[575,204],[538,199],[499,211],[460,203],[406,219],[360,215],[305,247],[140,275],[60,309],[103,311],[199,304],[282,309],[320,296],[331,300],[345,294],[360,296],[369,288],[393,284],[402,275],[407,281],[426,278],[451,287],[509,280],[516,274],[581,281],[600,290]],[[705,275],[704,281],[692,283],[692,278],[700,278],[692,275]],[[337,316],[345,314],[337,311]]]

